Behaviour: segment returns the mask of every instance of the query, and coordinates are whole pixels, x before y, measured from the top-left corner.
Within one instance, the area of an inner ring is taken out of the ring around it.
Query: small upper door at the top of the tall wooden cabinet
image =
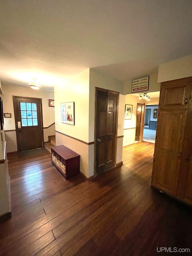
[[[188,109],[192,78],[161,83],[160,109]]]

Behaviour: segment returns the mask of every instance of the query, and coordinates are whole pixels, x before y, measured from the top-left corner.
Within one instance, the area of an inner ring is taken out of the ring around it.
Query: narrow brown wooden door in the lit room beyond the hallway
[[[140,141],[143,139],[144,108],[145,108],[145,104],[137,103],[136,131],[135,131],[136,141]]]

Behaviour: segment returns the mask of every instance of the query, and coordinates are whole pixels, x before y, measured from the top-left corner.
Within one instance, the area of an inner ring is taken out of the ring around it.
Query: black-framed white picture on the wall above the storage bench
[[[75,125],[74,101],[61,103],[61,123]]]

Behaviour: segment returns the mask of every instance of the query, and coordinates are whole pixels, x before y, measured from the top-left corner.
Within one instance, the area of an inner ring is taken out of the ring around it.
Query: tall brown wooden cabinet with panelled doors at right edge
[[[192,77],[161,83],[152,187],[192,205]]]

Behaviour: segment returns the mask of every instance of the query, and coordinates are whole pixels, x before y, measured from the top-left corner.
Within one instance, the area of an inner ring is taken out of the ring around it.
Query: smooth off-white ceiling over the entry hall
[[[0,78],[43,89],[96,67],[119,80],[192,54],[190,0],[0,1]]]

